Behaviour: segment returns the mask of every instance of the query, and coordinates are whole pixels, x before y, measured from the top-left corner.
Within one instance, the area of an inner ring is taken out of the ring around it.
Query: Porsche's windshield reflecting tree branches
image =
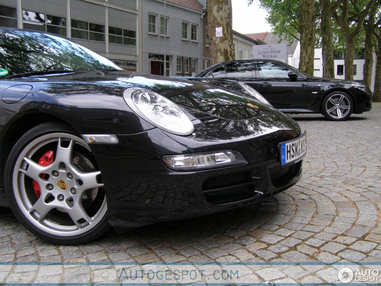
[[[0,29],[0,79],[49,71],[123,70],[77,43],[50,34]]]

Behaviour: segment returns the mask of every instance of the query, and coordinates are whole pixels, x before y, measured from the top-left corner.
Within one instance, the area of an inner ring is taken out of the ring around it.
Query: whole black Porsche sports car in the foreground
[[[0,197],[79,244],[240,207],[301,178],[306,134],[245,84],[131,74],[70,40],[0,29]]]

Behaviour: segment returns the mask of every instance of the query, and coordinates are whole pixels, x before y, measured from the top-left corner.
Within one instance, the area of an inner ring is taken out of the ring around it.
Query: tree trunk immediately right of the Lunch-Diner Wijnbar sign
[[[315,54],[314,0],[301,0],[300,2],[300,31],[299,69],[313,76]]]

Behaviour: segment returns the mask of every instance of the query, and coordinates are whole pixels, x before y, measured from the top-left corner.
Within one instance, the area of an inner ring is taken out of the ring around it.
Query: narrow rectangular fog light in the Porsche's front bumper
[[[169,155],[162,159],[168,168],[176,171],[206,170],[246,163],[242,154],[235,150]]]

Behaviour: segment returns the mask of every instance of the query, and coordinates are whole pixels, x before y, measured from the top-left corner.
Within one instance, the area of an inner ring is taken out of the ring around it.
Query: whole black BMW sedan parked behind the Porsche
[[[370,111],[368,87],[349,80],[312,77],[288,64],[269,59],[237,59],[208,67],[195,75],[245,82],[285,113],[322,113],[342,121]]]

